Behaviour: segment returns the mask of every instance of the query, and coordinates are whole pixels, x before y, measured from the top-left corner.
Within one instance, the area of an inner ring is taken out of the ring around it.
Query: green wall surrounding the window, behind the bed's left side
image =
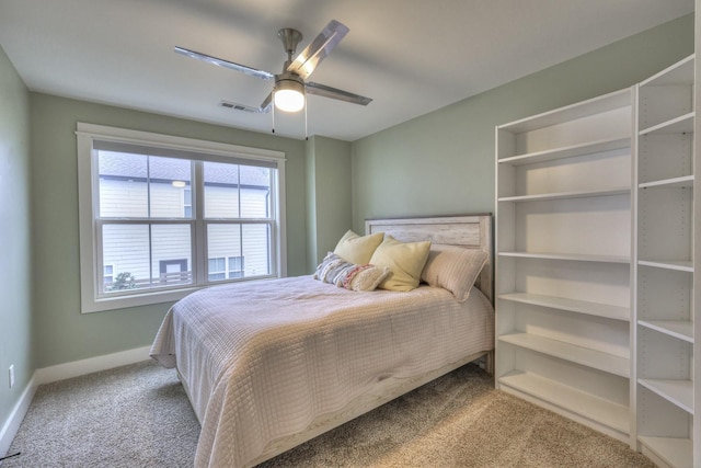
[[[149,345],[171,305],[80,313],[77,122],[285,151],[288,275],[308,273],[304,141],[39,93],[31,119],[38,368]]]

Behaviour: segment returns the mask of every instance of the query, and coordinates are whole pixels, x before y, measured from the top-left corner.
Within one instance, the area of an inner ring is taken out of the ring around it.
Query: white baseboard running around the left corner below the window
[[[0,429],[0,457],[7,455],[20,429],[20,424],[22,424],[26,412],[30,410],[30,404],[39,385],[146,361],[149,358],[150,351],[151,346],[137,347],[135,350],[105,354],[103,356],[90,357],[34,370],[34,375],[22,392],[20,401],[14,406],[8,420],[2,425],[2,429]]]

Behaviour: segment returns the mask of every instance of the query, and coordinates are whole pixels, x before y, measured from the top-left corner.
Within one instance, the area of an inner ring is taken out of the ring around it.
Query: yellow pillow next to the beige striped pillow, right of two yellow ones
[[[421,272],[428,260],[430,241],[400,242],[392,236],[386,236],[377,248],[370,263],[375,266],[388,266],[392,274],[380,283],[380,289],[412,290],[418,286]]]

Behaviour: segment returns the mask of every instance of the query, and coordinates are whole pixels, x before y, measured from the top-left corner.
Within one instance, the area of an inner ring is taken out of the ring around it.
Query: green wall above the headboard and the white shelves
[[[353,142],[353,227],[494,212],[494,127],[630,87],[693,54],[693,14]]]

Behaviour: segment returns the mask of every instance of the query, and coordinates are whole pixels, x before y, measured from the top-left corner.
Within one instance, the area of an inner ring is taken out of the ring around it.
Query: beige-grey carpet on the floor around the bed
[[[152,362],[42,386],[0,467],[188,467],[199,425]],[[261,467],[653,467],[464,366]]]

